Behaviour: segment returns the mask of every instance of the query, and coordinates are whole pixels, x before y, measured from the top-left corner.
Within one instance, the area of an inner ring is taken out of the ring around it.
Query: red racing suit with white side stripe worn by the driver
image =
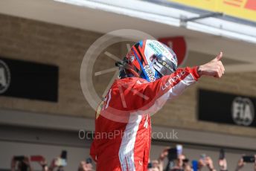
[[[144,171],[150,155],[150,114],[182,94],[199,78],[197,67],[179,68],[154,82],[129,77],[115,80],[95,119],[90,155],[97,171]]]

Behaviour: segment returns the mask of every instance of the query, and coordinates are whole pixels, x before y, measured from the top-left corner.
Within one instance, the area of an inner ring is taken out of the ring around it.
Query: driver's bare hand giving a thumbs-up
[[[198,74],[200,76],[206,75],[217,78],[222,77],[225,71],[223,62],[221,62],[222,57],[223,52],[220,52],[220,54],[215,59],[211,60],[205,65],[200,65],[198,68]]]

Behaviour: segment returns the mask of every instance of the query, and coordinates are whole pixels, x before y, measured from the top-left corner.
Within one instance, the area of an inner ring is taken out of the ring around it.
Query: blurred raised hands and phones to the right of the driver
[[[152,160],[148,164],[148,171],[201,171],[206,168],[209,171],[228,171],[228,163],[225,158],[223,149],[223,156],[218,158],[218,166],[214,166],[214,162],[210,156],[202,154],[198,160],[190,161],[184,153],[177,154],[176,158],[172,158],[170,147],[165,148],[157,160]],[[179,152],[178,152],[179,153]],[[164,167],[164,159],[167,158],[167,166]],[[245,161],[246,159],[246,161]],[[256,155],[246,156],[241,155],[241,158],[237,161],[237,166],[234,171],[243,171],[243,167],[247,164],[252,164],[252,171],[256,171]],[[246,170],[247,171],[247,170]]]

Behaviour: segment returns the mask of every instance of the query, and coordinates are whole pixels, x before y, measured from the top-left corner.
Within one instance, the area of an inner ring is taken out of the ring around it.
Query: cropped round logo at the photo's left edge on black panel
[[[3,94],[10,86],[10,70],[8,65],[0,59],[0,94]]]

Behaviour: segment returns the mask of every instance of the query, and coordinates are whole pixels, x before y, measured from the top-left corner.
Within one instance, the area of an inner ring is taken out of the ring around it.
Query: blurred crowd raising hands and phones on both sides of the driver
[[[159,155],[158,159],[149,161],[148,171],[200,171],[203,168],[207,168],[209,171],[227,171],[228,164],[225,158],[224,152],[220,151],[220,157],[218,158],[218,166],[214,166],[214,162],[210,156],[201,155],[198,160],[190,161],[184,152],[179,150],[173,150],[175,148],[167,147]],[[222,149],[223,150],[223,149]],[[221,153],[223,152],[223,153]],[[13,156],[11,160],[11,171],[33,171],[31,167],[31,161],[36,161],[41,167],[42,171],[63,171],[65,170],[66,152],[64,155],[60,155],[54,158],[49,164],[43,156]],[[171,154],[172,153],[172,154]],[[167,166],[164,166],[164,160],[167,158]],[[234,171],[242,171],[246,163],[252,163],[252,170],[256,171],[256,155],[245,156],[241,155],[241,158],[237,162],[237,167]],[[78,171],[94,171],[93,161],[91,158],[87,158],[85,161],[80,161],[77,167]]]

